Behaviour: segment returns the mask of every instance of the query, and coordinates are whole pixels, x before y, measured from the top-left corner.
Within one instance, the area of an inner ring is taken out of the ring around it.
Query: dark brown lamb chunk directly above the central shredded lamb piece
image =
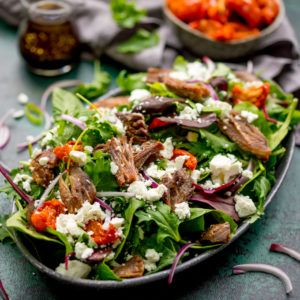
[[[126,127],[126,136],[134,144],[141,144],[149,140],[148,126],[142,114],[117,113],[117,117]]]

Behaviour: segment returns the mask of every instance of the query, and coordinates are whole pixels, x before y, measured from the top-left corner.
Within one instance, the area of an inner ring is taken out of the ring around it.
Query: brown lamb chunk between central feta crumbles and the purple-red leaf
[[[171,178],[165,175],[161,183],[168,188],[164,195],[164,202],[173,210],[175,204],[187,201],[194,192],[193,180],[184,169],[176,171]]]

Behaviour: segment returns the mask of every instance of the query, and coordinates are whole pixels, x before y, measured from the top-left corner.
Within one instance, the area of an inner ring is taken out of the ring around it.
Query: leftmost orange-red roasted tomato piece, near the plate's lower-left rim
[[[64,211],[65,206],[60,201],[46,201],[32,213],[31,224],[37,231],[44,231],[47,227],[56,229],[56,218]]]

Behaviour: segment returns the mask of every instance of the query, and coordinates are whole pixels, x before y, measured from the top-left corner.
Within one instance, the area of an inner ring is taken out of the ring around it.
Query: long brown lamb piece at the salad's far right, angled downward
[[[268,160],[271,149],[265,136],[260,130],[238,113],[231,113],[229,117],[218,121],[220,130],[244,151],[254,154],[259,159]]]

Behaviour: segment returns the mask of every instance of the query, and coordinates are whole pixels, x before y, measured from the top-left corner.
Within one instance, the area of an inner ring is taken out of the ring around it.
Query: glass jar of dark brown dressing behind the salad
[[[69,72],[80,57],[70,4],[55,0],[22,2],[26,3],[27,19],[20,26],[19,47],[29,69],[43,76]]]

